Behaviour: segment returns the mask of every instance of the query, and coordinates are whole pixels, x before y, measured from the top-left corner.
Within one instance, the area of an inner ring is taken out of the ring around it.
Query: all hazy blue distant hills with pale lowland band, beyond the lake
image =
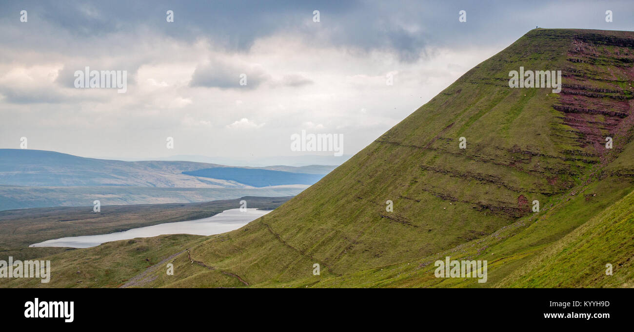
[[[0,211],[29,207],[160,204],[297,195],[335,166],[232,168],[191,161],[118,161],[0,149]],[[214,176],[200,175],[214,169]],[[193,173],[192,173],[193,172]],[[240,176],[235,176],[240,172]]]

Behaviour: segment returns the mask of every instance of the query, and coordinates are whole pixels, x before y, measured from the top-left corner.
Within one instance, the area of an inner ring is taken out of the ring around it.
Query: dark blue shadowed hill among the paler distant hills
[[[230,180],[253,187],[270,187],[276,185],[312,185],[323,178],[320,174],[290,173],[271,171],[269,169],[249,168],[205,168],[197,171],[183,172],[186,175]]]

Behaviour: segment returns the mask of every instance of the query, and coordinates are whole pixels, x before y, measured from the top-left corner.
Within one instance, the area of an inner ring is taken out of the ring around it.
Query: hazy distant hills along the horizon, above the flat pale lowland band
[[[0,185],[28,187],[166,187],[166,188],[241,188],[248,183],[230,180],[223,169],[230,166],[195,163],[191,161],[118,161],[72,156],[53,151],[0,149]],[[215,175],[198,177],[184,172],[199,169],[217,169]],[[250,178],[261,177],[261,183],[279,185],[281,173],[262,172],[263,169],[283,171],[299,182],[283,181],[284,184],[312,184],[335,166],[311,165],[303,167],[269,166],[264,168],[242,168],[243,174],[254,172]],[[230,170],[231,174],[235,171]],[[292,176],[292,173],[312,173],[313,176]],[[321,176],[314,176],[314,175]],[[263,176],[263,177],[262,177]],[[272,178],[266,178],[272,176]],[[316,179],[306,181],[306,178]],[[261,186],[258,186],[261,187]]]

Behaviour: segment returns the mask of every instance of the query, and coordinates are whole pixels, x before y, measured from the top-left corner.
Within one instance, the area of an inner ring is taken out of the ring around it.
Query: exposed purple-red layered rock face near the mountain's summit
[[[567,61],[575,65],[563,70],[566,84],[553,108],[563,113],[566,125],[576,129],[579,147],[592,145],[603,154],[605,137],[629,126],[626,118],[631,115],[634,97],[632,46],[631,38],[593,33],[573,37]],[[602,69],[606,65],[610,72]]]

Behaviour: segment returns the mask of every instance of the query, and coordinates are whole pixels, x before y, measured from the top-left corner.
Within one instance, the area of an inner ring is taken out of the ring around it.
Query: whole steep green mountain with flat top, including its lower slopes
[[[633,32],[531,30],[278,209],[175,248],[174,276],[144,286],[631,287],[633,64]],[[523,70],[560,70],[560,93],[511,88]],[[106,248],[134,252],[51,259]],[[436,278],[445,257],[488,261],[487,281]]]

